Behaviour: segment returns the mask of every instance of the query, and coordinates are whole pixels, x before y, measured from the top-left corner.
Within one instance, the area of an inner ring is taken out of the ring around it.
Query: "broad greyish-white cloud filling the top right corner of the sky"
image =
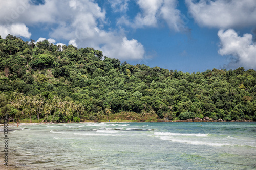
[[[256,26],[255,0],[186,0],[189,15],[199,25],[222,29]]]

